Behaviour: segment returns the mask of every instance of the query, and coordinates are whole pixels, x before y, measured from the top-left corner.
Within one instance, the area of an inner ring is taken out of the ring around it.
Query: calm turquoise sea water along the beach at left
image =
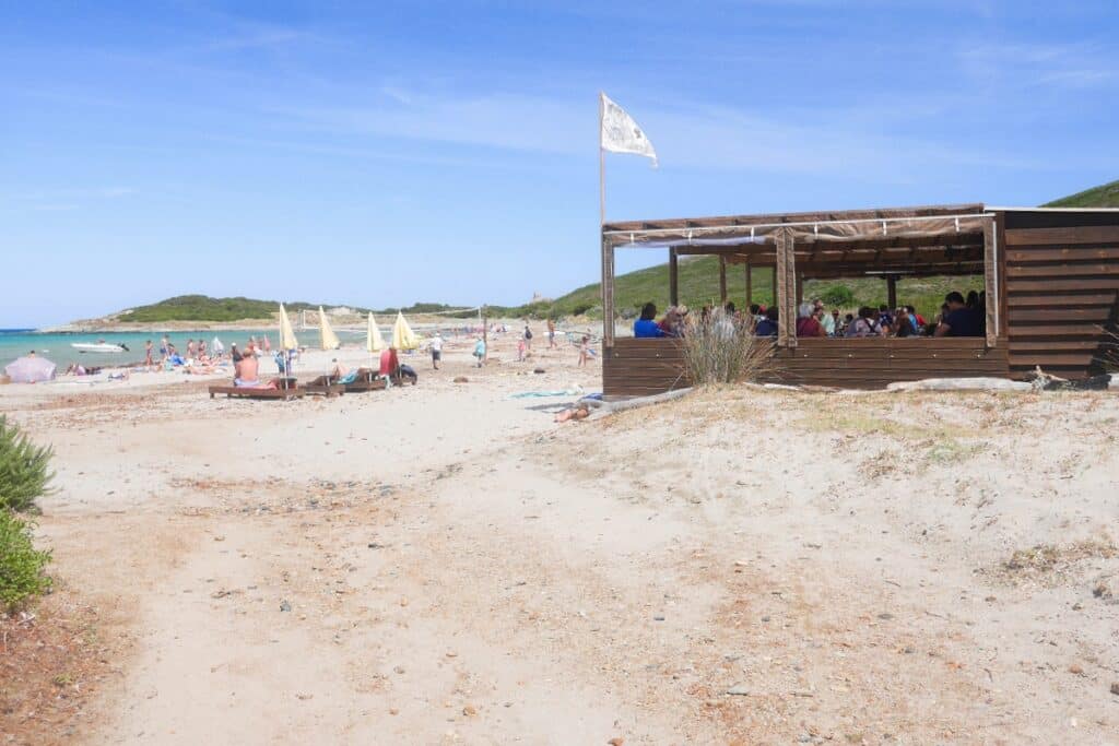
[[[265,333],[274,344],[279,334],[275,331]],[[83,366],[119,366],[126,362],[142,362],[144,342],[149,339],[154,347],[154,356],[159,359],[160,340],[163,336],[163,332],[148,331],[41,333],[29,329],[0,329],[0,371],[3,370],[6,365],[18,357],[27,355],[31,350],[35,350],[35,353],[39,357],[47,358],[57,365],[58,372],[66,370],[66,367],[72,362],[81,362]],[[205,339],[208,347],[214,343],[214,338],[217,337],[225,344],[225,349],[228,350],[229,344],[233,342],[243,347],[251,336],[260,339],[261,332],[233,329],[227,331],[175,331],[167,332],[166,336],[180,352],[186,355],[188,339],[196,341],[199,338]],[[309,344],[314,344],[319,341],[317,330],[307,330],[305,332],[297,330],[295,336],[300,337],[300,342]],[[351,342],[357,339],[358,334],[338,330],[338,337],[342,342]],[[360,337],[364,339],[364,331],[360,333]],[[125,344],[129,351],[120,353],[78,352],[70,347],[74,342],[98,342],[101,340],[112,344]]]

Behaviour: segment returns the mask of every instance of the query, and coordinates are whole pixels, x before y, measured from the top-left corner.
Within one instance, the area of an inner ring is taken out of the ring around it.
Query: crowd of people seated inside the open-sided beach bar
[[[982,337],[987,330],[985,293],[971,291],[965,295],[952,291],[944,296],[940,313],[927,320],[913,305],[891,309],[864,305],[856,312],[841,314],[839,309],[825,310],[816,299],[797,308],[797,337]],[[715,323],[724,331],[743,329],[756,337],[777,337],[778,309],[754,303],[749,311],[727,303],[716,310],[706,305],[699,311],[699,323]],[[673,305],[657,320],[657,306],[646,303],[633,322],[638,338],[684,337],[687,334],[692,311],[686,305]]]

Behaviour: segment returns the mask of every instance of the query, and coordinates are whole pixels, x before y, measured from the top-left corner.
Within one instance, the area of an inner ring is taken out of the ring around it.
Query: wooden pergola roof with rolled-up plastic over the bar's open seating
[[[775,266],[775,236],[783,232],[805,277],[981,274],[990,219],[982,205],[947,205],[609,223],[602,235],[615,248],[670,248]]]

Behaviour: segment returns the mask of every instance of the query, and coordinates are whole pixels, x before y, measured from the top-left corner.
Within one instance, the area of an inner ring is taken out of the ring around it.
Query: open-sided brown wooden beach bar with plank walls
[[[602,308],[615,319],[614,256],[668,253],[669,302],[681,257],[720,257],[722,302],[751,302],[755,270],[771,272],[779,309],[769,377],[779,383],[877,388],[937,377],[1021,378],[1041,367],[1084,378],[1102,369],[1119,311],[1119,210],[950,205],[608,223]],[[726,275],[744,272],[746,298]],[[986,336],[797,338],[806,280],[881,277],[891,309],[906,277],[982,276]],[[658,394],[690,385],[673,339],[603,334],[603,393]]]

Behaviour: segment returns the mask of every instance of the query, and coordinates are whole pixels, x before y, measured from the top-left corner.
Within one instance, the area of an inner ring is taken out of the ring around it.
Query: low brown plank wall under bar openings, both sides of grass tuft
[[[790,385],[883,388],[899,380],[1009,375],[1007,340],[982,338],[800,339],[777,348],[765,380]],[[666,339],[614,340],[602,360],[603,394],[646,396],[689,385],[678,344]]]

